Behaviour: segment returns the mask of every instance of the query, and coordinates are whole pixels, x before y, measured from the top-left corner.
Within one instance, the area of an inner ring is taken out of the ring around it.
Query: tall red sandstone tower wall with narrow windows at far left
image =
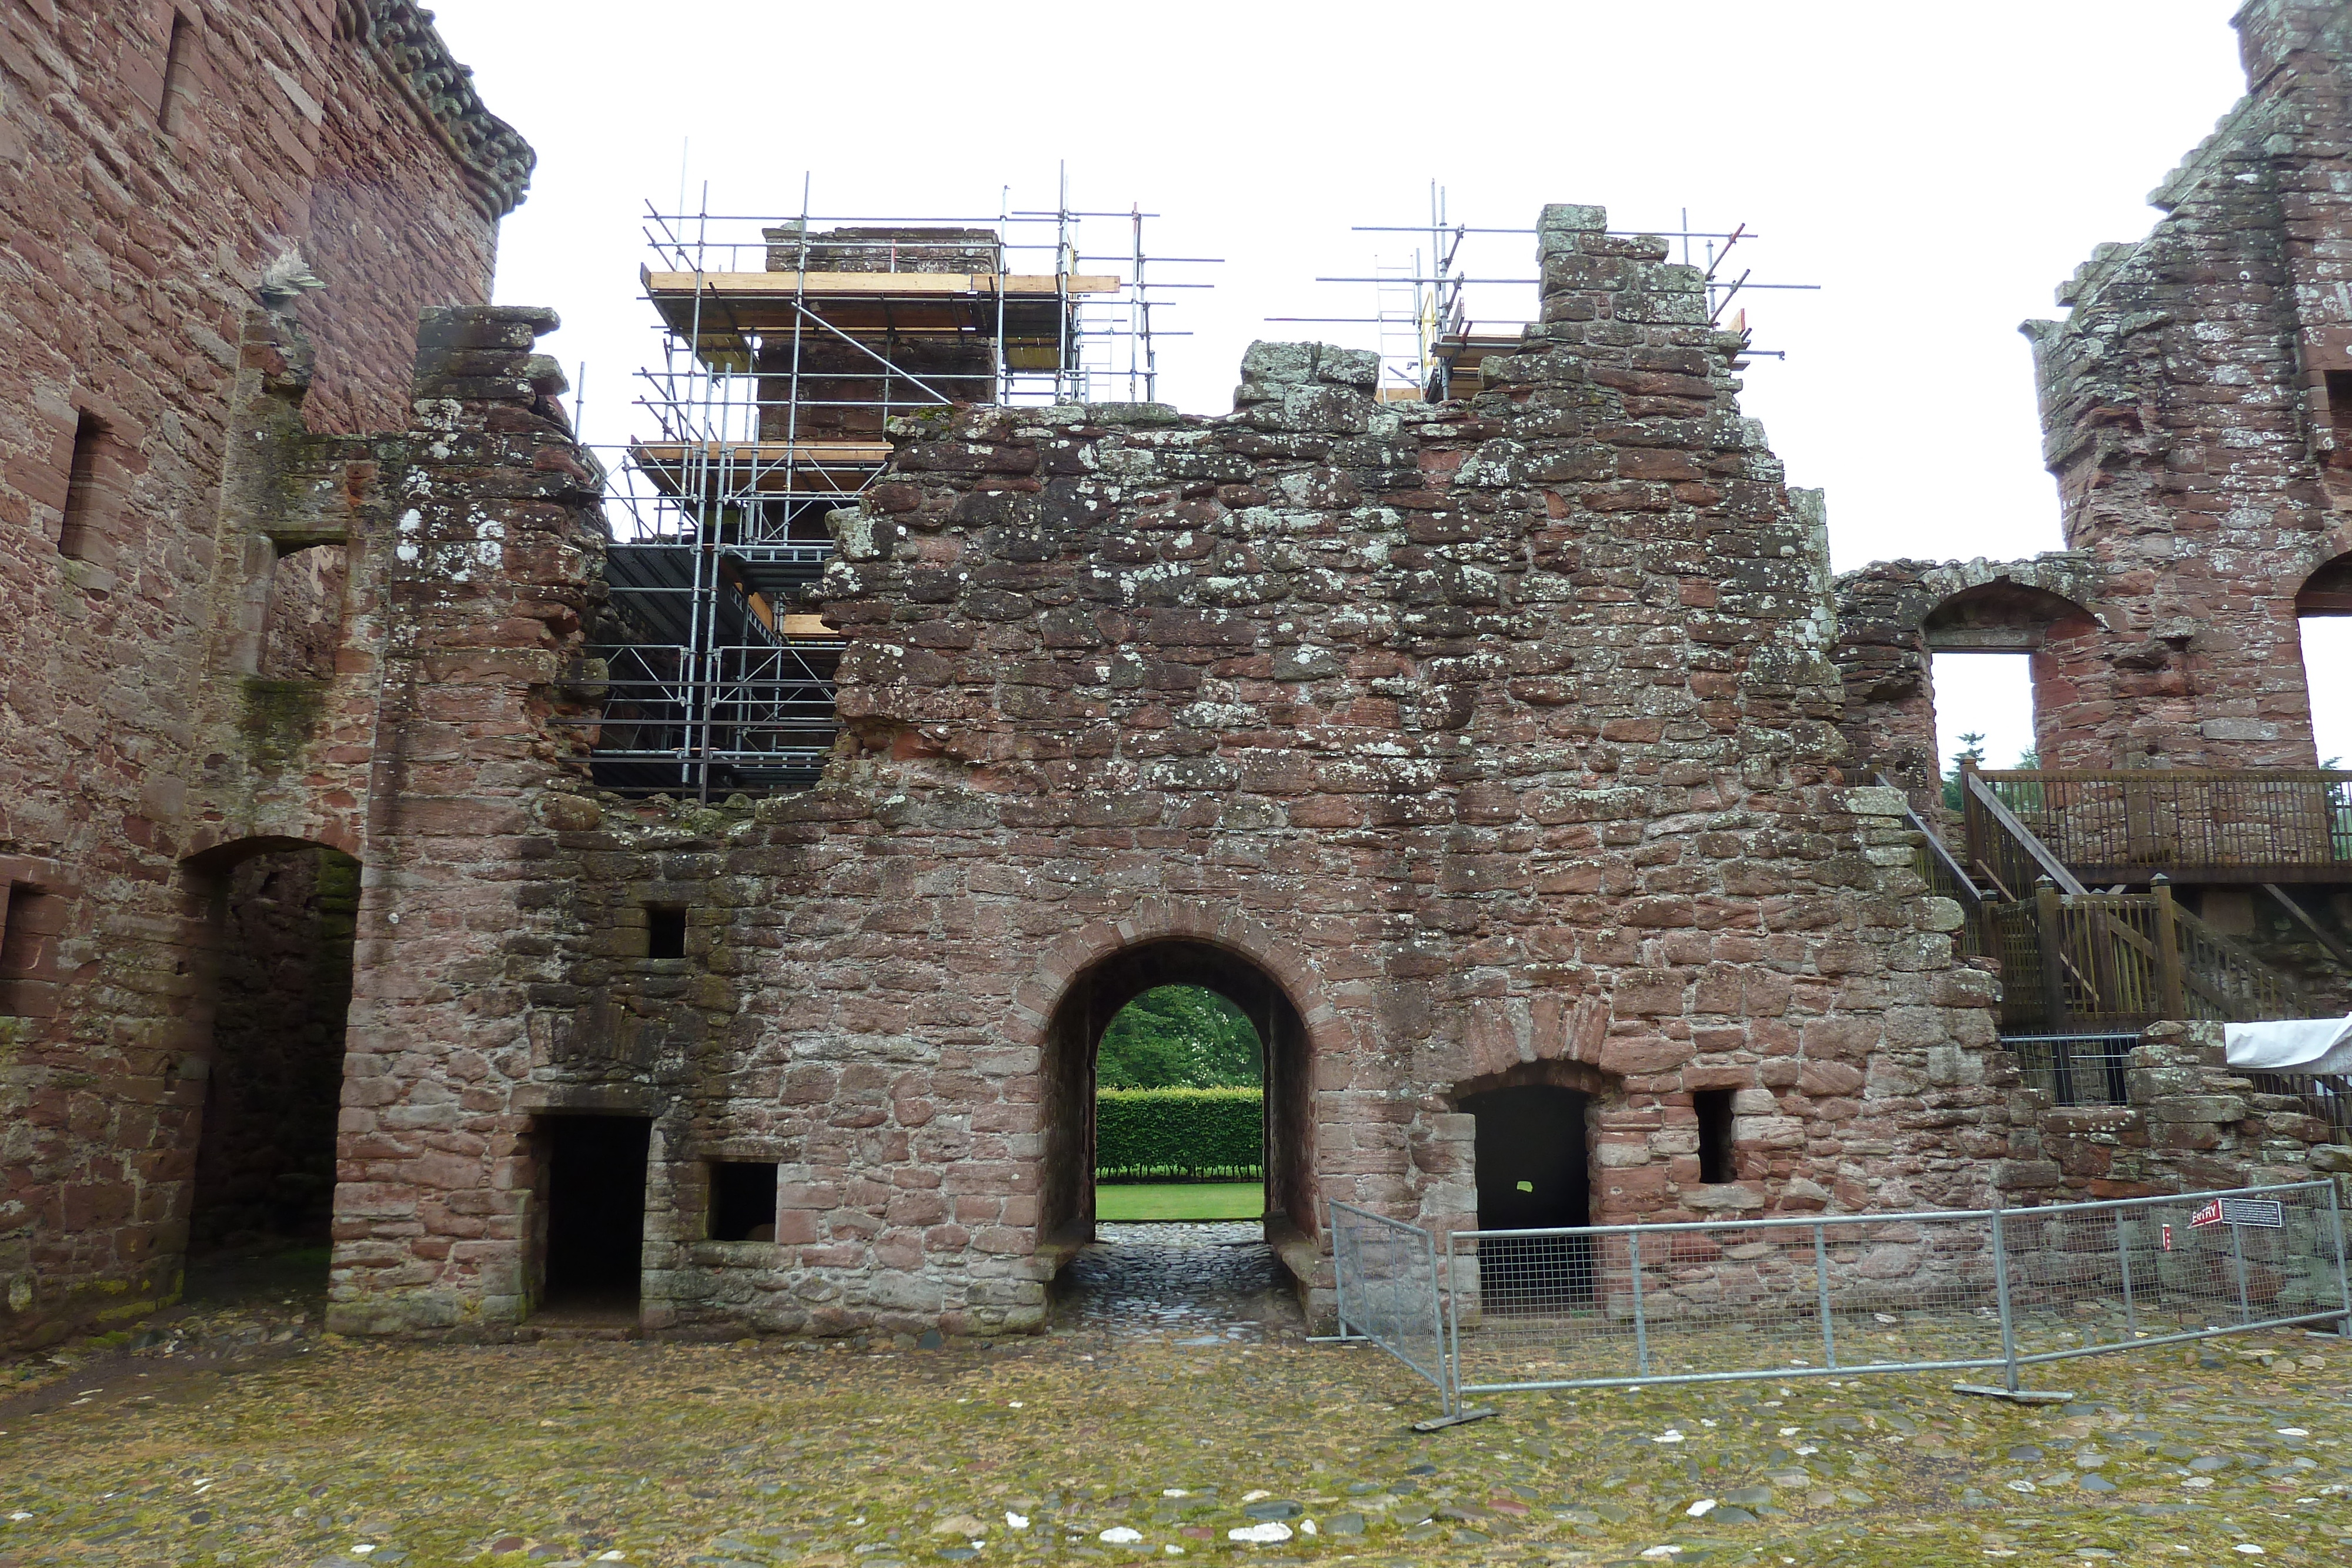
[[[303,470],[301,252],[280,266],[334,254],[315,212],[348,233],[315,195],[367,127],[400,169],[372,259],[320,261],[299,306],[350,367],[322,418],[346,430],[405,386],[416,303],[487,296],[527,169],[416,7],[0,5],[0,872],[56,900],[40,1011],[0,1018],[0,1342],[174,1291],[212,889],[238,839],[360,849],[365,574],[334,677],[256,677],[278,550],[343,543],[374,463]]]

